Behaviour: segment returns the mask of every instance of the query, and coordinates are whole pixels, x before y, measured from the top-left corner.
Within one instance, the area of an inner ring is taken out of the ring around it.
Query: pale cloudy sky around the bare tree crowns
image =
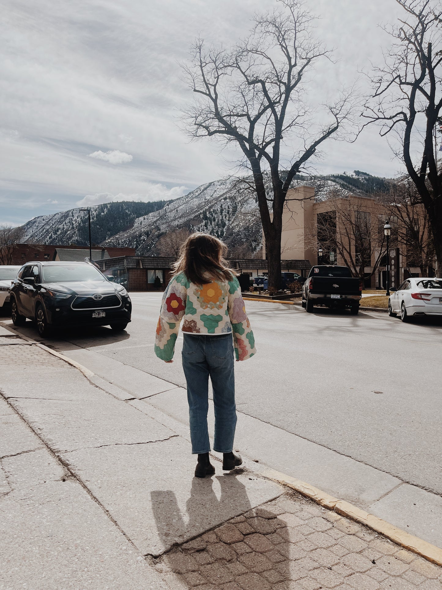
[[[177,124],[192,100],[179,61],[193,38],[243,36],[273,0],[6,0],[0,60],[0,223],[111,200],[174,198],[233,169],[235,153],[189,143]],[[315,35],[335,48],[319,65],[319,101],[379,63],[378,27],[394,0],[307,0]],[[364,80],[359,82],[364,90]],[[375,129],[330,142],[318,173],[392,176],[399,163]]]

